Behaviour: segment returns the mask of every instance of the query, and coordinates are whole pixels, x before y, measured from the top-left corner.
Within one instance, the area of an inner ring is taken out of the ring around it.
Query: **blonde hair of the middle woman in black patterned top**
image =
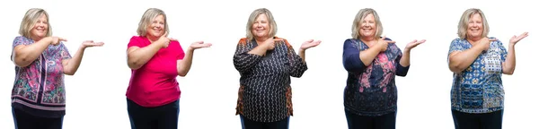
[[[266,8],[259,8],[259,9],[254,10],[251,13],[251,16],[249,16],[249,20],[247,21],[247,29],[246,29],[247,39],[249,40],[254,39],[254,35],[252,34],[252,24],[256,21],[256,18],[261,14],[266,14],[266,16],[268,17],[268,22],[270,22],[270,33],[269,33],[270,38],[275,37],[275,35],[277,34],[277,23],[275,22],[275,19],[273,18],[273,14],[271,14],[270,10]]]

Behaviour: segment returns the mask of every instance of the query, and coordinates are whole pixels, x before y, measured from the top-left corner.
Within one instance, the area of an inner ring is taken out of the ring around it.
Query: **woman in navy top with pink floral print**
[[[393,129],[397,111],[395,75],[406,76],[410,51],[425,40],[413,40],[402,52],[391,39],[380,38],[382,22],[375,10],[359,10],[352,39],[344,41],[342,64],[348,71],[344,107],[350,129]]]

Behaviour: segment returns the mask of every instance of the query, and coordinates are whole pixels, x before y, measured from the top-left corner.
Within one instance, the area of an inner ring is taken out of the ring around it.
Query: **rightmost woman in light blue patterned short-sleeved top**
[[[453,72],[451,109],[457,129],[501,129],[504,90],[501,74],[515,71],[515,45],[527,32],[513,36],[508,50],[488,38],[489,23],[480,9],[466,10],[458,24],[458,37],[449,47]]]

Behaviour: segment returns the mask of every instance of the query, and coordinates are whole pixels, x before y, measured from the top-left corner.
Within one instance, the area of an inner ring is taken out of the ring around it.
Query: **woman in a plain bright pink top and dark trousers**
[[[131,128],[176,129],[180,112],[180,87],[176,77],[189,73],[194,50],[210,47],[194,42],[184,52],[180,42],[167,38],[166,14],[147,9],[137,34],[128,43],[131,79],[126,93]]]

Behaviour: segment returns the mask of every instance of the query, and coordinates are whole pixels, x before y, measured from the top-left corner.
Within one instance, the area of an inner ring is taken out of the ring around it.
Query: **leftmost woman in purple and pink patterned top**
[[[12,112],[16,129],[61,129],[66,115],[64,74],[74,75],[86,47],[101,47],[102,42],[84,41],[75,56],[63,42],[52,37],[49,13],[32,8],[24,14],[13,40],[12,61],[15,82]]]

